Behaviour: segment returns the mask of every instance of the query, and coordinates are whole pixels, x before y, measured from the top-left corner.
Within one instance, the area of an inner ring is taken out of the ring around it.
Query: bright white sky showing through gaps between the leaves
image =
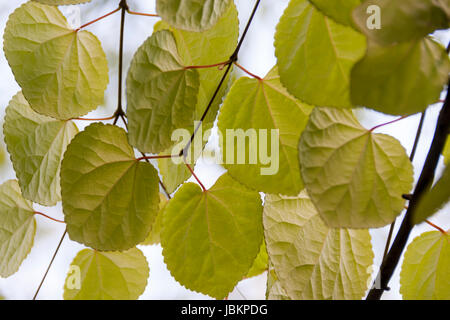
[[[25,0],[0,0],[0,37],[3,39],[3,30],[9,14],[16,7],[26,2]],[[80,5],[81,23],[91,21],[104,13],[114,10],[117,7],[118,0],[94,0],[87,5]],[[154,0],[128,0],[129,6],[133,11],[154,13]],[[253,0],[235,0],[239,10],[239,19],[241,22],[241,32],[251,13],[254,5]],[[273,36],[276,24],[286,8],[288,0],[262,0],[261,6],[249,30],[249,34],[244,42],[240,54],[240,63],[255,74],[264,76],[276,63],[273,48]],[[70,15],[73,12],[71,7],[63,7],[63,12]],[[158,21],[155,18],[130,16],[126,17],[125,29],[125,51],[124,51],[124,76],[128,69],[130,60],[137,48],[144,40],[151,35],[153,24]],[[110,83],[105,94],[105,103],[96,111],[87,117],[110,116],[116,108],[117,99],[117,65],[118,65],[118,38],[119,38],[120,14],[115,14],[105,20],[91,25],[87,30],[93,32],[100,38],[103,48],[108,56],[110,69]],[[440,38],[449,40],[448,33],[440,33]],[[1,41],[3,42],[3,41]],[[1,43],[3,45],[3,43]],[[3,46],[2,46],[3,48]],[[6,62],[3,50],[0,51],[0,117],[3,119],[4,111],[9,100],[19,90],[15,83],[12,72]],[[420,174],[420,168],[428,151],[431,139],[434,133],[439,113],[439,106],[431,107],[427,112],[424,130],[419,148],[414,161],[416,179]],[[358,114],[363,125],[370,128],[374,125],[394,119],[394,117],[385,116],[374,111],[364,111]],[[403,144],[408,152],[411,151],[414,136],[416,133],[419,116],[412,116],[395,124],[382,127],[377,132],[390,134]],[[88,125],[86,122],[78,122],[80,130]],[[1,138],[3,140],[3,138]],[[214,144],[210,144],[214,147]],[[2,146],[4,149],[4,146]],[[442,170],[442,160],[439,170]],[[223,169],[218,166],[207,165],[200,161],[196,166],[196,173],[204,182],[206,187],[211,186],[214,181],[223,173]],[[15,174],[9,159],[0,166],[0,183],[7,179],[14,179]],[[48,213],[49,215],[63,219],[61,206],[56,208],[44,208],[35,206],[36,209]],[[449,207],[444,208],[440,214],[431,220],[442,226],[444,229],[450,228]],[[445,216],[445,213],[446,216]],[[40,216],[36,217],[37,232],[34,247],[24,261],[19,271],[8,279],[0,278],[0,295],[6,299],[31,299],[36,288],[47,268],[47,265],[53,255],[53,252],[64,232],[64,225],[52,222]],[[397,227],[400,223],[397,223]],[[387,236],[388,227],[373,230],[373,245],[375,251],[375,264],[379,265],[381,255],[384,249],[384,243]],[[410,241],[424,231],[432,230],[428,225],[419,225],[413,230]],[[39,299],[61,299],[64,280],[69,265],[78,251],[84,247],[76,242],[70,241],[68,237],[63,242],[60,252],[50,270],[50,273],[42,287]],[[145,253],[150,265],[149,285],[141,299],[203,299],[208,298],[201,294],[186,290],[180,286],[167,271],[161,255],[160,246],[140,247]],[[399,272],[400,267],[391,281],[391,291],[386,292],[384,298],[400,299],[399,294]],[[252,279],[242,281],[238,284],[239,290],[235,290],[230,299],[242,299],[241,293],[247,299],[264,299],[265,297],[266,276],[261,275]],[[239,292],[240,291],[240,292]]]

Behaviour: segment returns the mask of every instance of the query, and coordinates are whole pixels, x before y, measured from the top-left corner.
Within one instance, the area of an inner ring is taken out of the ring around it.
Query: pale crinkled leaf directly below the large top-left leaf
[[[3,133],[23,196],[42,205],[61,200],[61,160],[78,129],[72,121],[40,115],[21,92],[6,109]]]

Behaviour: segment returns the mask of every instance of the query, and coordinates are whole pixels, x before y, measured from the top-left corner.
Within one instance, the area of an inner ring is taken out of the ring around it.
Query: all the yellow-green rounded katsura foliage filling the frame
[[[20,91],[4,106],[3,134],[17,180],[0,185],[0,276],[28,256],[38,214],[65,223],[55,255],[66,233],[88,247],[68,268],[68,300],[138,299],[152,283],[141,245],[160,245],[176,281],[217,299],[260,275],[267,299],[367,291],[373,299],[388,287],[386,265],[402,261],[413,226],[426,222],[439,232],[408,246],[400,292],[450,299],[448,226],[428,220],[449,202],[450,98],[441,99],[450,62],[432,34],[449,27],[449,1],[290,0],[273,35],[276,65],[260,68],[266,75],[240,60],[246,37],[260,32],[263,1],[252,0],[245,21],[238,1],[246,0],[154,0],[156,12],[142,13],[109,0],[115,10],[76,30],[58,6],[99,1],[30,0],[11,13],[3,49]],[[115,112],[82,118],[103,104],[108,64],[117,63],[86,29],[119,12],[120,32],[107,26],[119,42]],[[129,30],[134,15],[150,22]],[[148,38],[124,48],[139,32]],[[129,64],[125,50],[136,50]],[[439,102],[415,182],[404,139],[376,130]],[[357,107],[399,118],[365,128]],[[215,130],[214,160],[227,172],[206,188],[195,165]],[[441,155],[447,167],[434,181]],[[59,202],[64,221],[33,208]],[[369,230],[405,210],[381,266],[383,287],[372,287],[383,252],[373,252]]]

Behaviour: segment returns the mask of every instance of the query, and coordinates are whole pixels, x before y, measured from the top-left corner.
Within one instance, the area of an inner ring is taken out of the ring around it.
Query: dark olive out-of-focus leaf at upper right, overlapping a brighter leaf
[[[370,43],[352,70],[352,100],[387,114],[421,112],[439,100],[449,71],[445,49],[433,40],[389,47]]]

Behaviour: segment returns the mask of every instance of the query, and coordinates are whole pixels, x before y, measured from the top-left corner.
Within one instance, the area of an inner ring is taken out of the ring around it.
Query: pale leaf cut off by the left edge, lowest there
[[[32,203],[25,200],[16,180],[0,185],[0,276],[19,270],[33,247],[36,221]]]

